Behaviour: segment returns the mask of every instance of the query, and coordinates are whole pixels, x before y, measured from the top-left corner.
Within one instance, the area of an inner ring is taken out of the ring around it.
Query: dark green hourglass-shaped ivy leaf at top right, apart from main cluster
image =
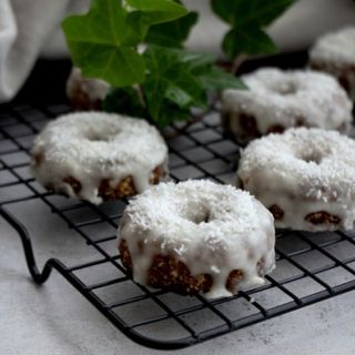
[[[296,0],[211,0],[212,9],[231,24],[222,43],[230,59],[241,53],[272,53],[276,47],[263,30]]]

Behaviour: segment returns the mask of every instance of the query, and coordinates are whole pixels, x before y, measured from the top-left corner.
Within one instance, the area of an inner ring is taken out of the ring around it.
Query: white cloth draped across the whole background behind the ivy
[[[211,13],[210,0],[184,0],[201,12],[189,47],[221,54],[226,26]],[[58,31],[67,12],[83,11],[89,0],[0,0],[0,103],[16,95],[40,53],[68,54]],[[355,24],[353,0],[300,0],[270,29],[281,50],[306,48],[326,31]],[[55,31],[57,30],[57,31]]]

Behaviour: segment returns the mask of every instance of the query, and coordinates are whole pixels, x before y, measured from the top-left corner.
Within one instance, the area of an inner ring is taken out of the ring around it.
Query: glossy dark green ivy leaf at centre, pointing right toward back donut
[[[213,57],[150,45],[144,53],[142,85],[149,114],[158,125],[189,120],[191,109],[207,106],[206,90],[245,89],[232,74],[213,65]]]

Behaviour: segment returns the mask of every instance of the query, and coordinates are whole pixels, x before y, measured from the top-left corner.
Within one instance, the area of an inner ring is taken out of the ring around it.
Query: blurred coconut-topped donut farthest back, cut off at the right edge
[[[355,100],[355,27],[321,37],[310,50],[310,67],[335,77]]]

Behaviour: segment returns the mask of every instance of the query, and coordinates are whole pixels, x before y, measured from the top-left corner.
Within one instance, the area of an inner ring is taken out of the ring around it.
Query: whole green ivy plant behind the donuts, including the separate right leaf
[[[223,50],[275,50],[264,28],[294,0],[212,0],[213,11],[231,26]],[[245,90],[235,75],[214,65],[215,58],[184,49],[199,14],[174,0],[92,0],[87,14],[67,18],[62,28],[74,65],[84,77],[112,90],[103,109],[165,126],[187,121],[191,109],[209,104],[207,92]]]

